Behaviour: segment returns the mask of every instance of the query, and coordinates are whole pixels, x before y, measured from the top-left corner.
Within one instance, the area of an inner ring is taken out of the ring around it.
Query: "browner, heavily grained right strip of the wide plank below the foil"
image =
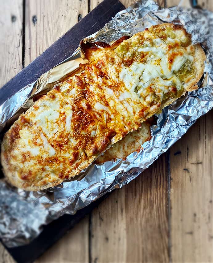
[[[167,179],[164,154],[126,187],[126,262],[169,262]]]

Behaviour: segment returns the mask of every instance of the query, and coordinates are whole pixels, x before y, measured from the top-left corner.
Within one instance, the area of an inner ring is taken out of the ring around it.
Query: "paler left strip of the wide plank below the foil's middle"
[[[125,190],[114,191],[92,212],[91,262],[126,262]]]

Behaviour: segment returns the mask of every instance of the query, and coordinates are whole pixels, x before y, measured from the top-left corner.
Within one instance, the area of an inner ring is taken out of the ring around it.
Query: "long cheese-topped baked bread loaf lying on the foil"
[[[172,24],[111,47],[94,45],[84,46],[90,63],[36,101],[4,136],[1,162],[13,185],[40,190],[74,177],[195,89],[203,74],[200,45],[191,45],[190,35]]]

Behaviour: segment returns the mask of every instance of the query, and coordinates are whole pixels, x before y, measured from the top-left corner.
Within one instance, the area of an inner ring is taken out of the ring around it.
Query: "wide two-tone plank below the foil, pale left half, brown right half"
[[[92,212],[92,262],[169,262],[167,162],[161,156]]]

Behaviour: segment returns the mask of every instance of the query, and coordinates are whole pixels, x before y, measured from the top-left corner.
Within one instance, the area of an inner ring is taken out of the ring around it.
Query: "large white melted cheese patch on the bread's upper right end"
[[[170,42],[175,42],[176,40],[167,38]],[[159,93],[162,97],[163,93],[170,91],[169,87],[176,85],[176,88],[181,88],[181,82],[175,75],[175,72],[180,70],[182,65],[186,60],[193,61],[194,58],[191,55],[176,55],[174,61],[170,67],[168,60],[171,52],[174,50],[167,50],[167,45],[163,43],[160,38],[155,38],[153,40],[156,46],[146,46],[140,47],[137,51],[151,53],[148,55],[146,63],[134,61],[130,67],[125,67],[122,65],[122,69],[119,74],[119,78],[125,84],[125,87],[132,92],[135,91],[137,87],[137,94],[147,98],[146,102],[150,102],[152,97],[149,94],[149,87],[154,85],[155,92]],[[126,95],[121,94],[119,99],[128,98]]]

